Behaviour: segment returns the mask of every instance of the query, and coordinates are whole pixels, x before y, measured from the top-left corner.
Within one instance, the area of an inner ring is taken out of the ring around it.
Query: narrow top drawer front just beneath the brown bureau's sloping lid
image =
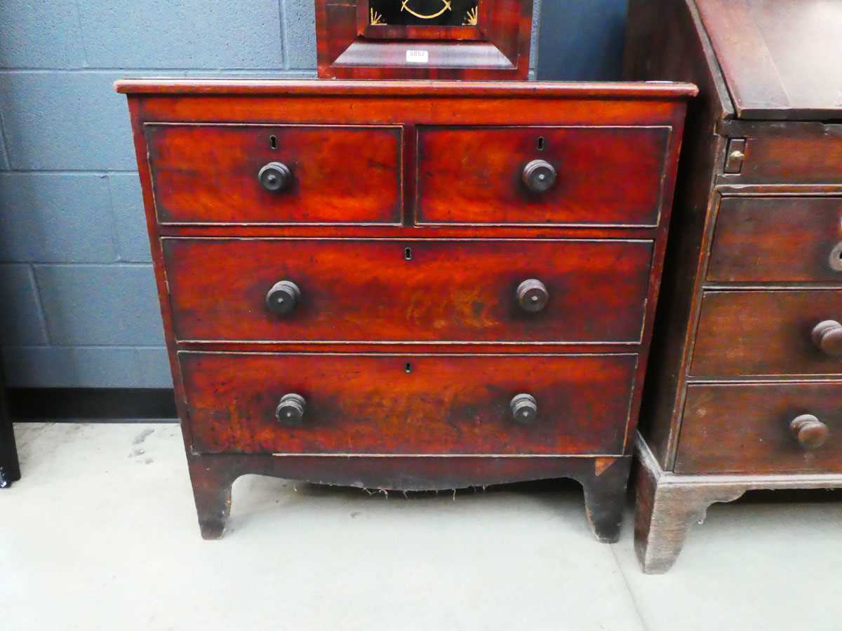
[[[791,135],[772,131],[746,138],[740,172],[722,179],[740,184],[842,183],[842,125],[807,123],[787,130]]]

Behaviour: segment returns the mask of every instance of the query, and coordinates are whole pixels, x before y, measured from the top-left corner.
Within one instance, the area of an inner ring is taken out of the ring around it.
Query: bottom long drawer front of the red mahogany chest
[[[636,362],[179,353],[194,448],[213,453],[619,454]],[[290,393],[303,414],[279,422]],[[528,422],[514,421],[519,394],[536,402]]]

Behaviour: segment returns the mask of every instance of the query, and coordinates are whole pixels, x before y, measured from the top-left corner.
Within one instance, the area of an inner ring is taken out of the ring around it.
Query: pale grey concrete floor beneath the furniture
[[[178,426],[16,432],[3,631],[842,628],[835,494],[713,506],[646,576],[631,512],[598,544],[573,482],[404,497],[246,476],[226,537],[203,541]]]

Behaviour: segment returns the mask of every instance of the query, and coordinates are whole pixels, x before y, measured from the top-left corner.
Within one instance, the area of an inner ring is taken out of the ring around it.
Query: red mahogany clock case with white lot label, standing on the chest
[[[464,7],[453,6],[464,3],[393,0],[401,6],[394,17],[410,23],[394,24],[371,0],[316,0],[318,76],[524,80],[532,3],[479,0],[470,24]],[[436,18],[412,19],[409,11]]]

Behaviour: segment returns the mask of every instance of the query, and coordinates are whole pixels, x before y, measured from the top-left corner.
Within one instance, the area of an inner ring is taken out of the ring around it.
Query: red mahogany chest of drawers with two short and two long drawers
[[[687,84],[118,82],[196,507],[573,477],[615,540]]]

